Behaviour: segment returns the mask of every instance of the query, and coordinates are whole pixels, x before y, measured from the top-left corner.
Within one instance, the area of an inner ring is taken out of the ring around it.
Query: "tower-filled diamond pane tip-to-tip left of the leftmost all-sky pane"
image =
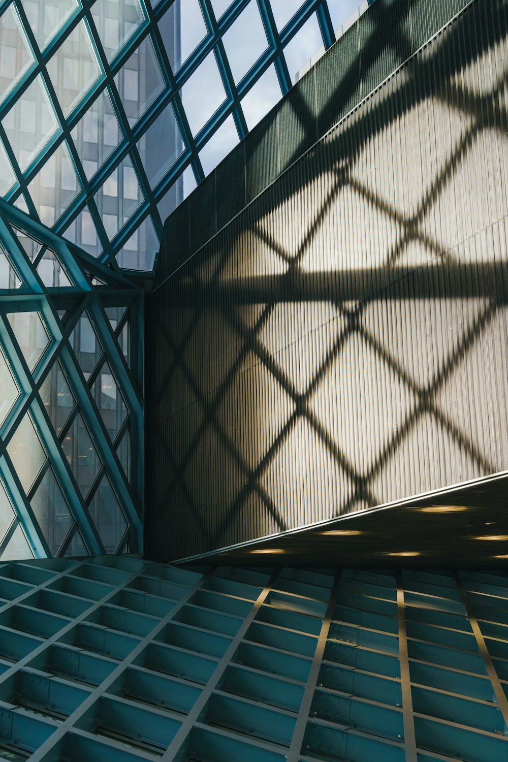
[[[133,126],[165,86],[150,37],[145,37],[114,82],[129,124]]]

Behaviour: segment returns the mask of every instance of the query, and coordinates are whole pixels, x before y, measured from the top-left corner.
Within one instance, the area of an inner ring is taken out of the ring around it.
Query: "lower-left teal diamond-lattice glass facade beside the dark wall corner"
[[[0,247],[0,557],[139,552],[139,289],[2,200]]]

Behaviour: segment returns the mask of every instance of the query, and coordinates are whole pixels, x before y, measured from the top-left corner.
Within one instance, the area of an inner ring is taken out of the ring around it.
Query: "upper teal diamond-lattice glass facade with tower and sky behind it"
[[[165,218],[365,8],[0,0],[0,194],[151,271]]]

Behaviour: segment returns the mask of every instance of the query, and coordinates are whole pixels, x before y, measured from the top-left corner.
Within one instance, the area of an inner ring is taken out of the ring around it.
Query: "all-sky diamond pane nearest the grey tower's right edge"
[[[225,101],[225,89],[213,52],[187,79],[181,97],[190,130],[196,135]]]

